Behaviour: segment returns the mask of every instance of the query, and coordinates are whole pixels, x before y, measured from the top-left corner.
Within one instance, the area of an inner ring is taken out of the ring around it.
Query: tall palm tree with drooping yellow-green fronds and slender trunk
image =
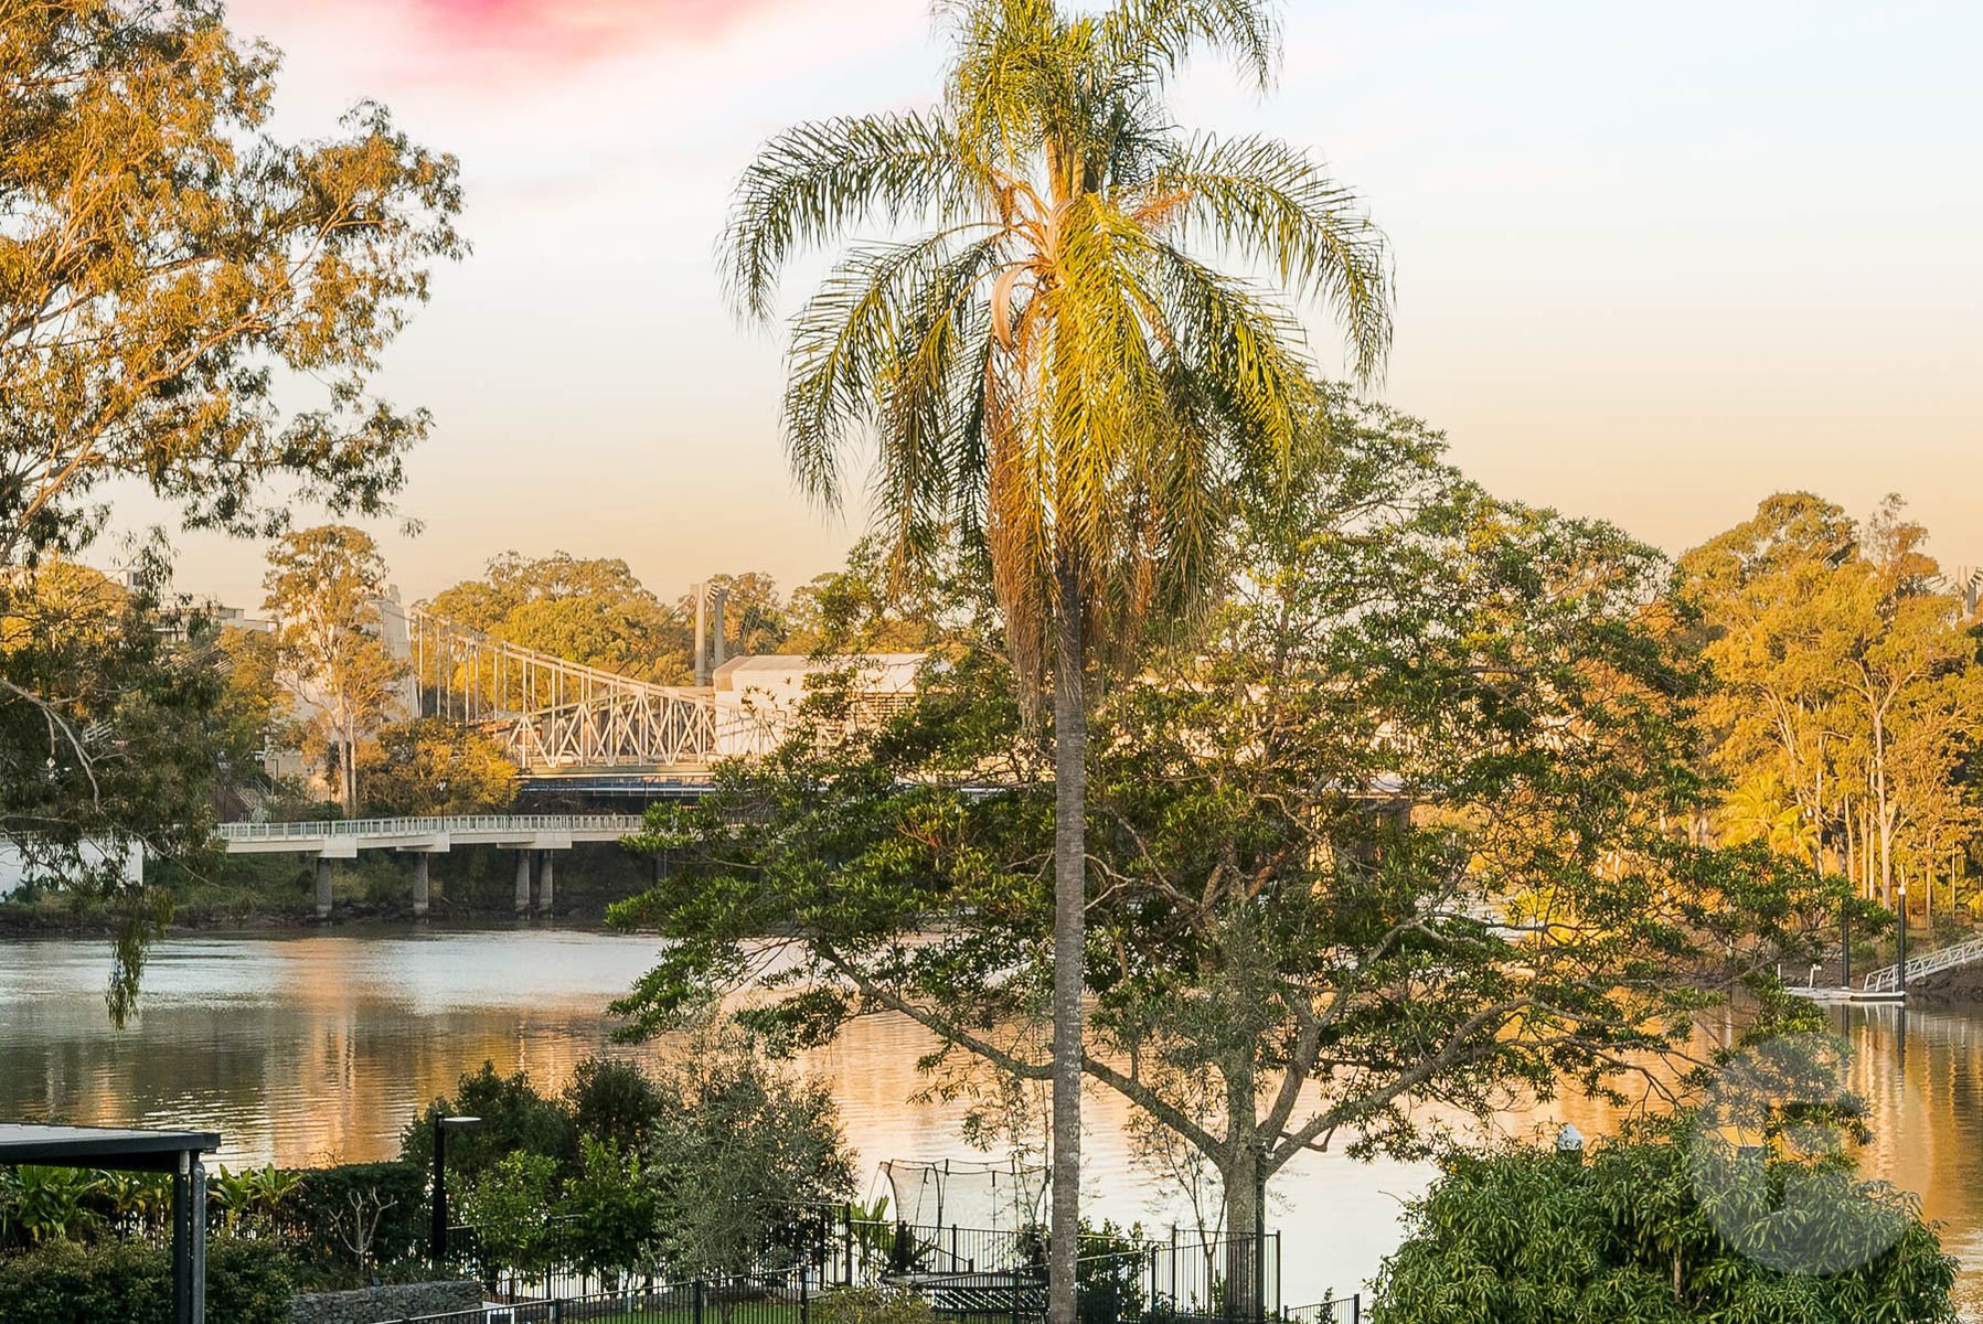
[[[791,470],[831,507],[849,440],[873,434],[896,563],[946,539],[982,553],[1021,692],[1053,680],[1051,1318],[1069,1324],[1089,670],[1204,597],[1235,472],[1301,460],[1311,379],[1283,297],[1327,305],[1368,379],[1390,279],[1382,236],[1307,153],[1170,123],[1196,50],[1271,85],[1263,0],[938,12],[954,38],[942,101],[769,139],[736,186],[724,276],[742,315],[769,319],[793,256],[871,236],[793,319]]]

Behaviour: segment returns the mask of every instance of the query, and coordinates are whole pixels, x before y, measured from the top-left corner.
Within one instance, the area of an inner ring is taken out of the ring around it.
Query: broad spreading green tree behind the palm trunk
[[[1321,468],[1237,494],[1206,630],[1095,716],[1083,1070],[1210,1165],[1235,1231],[1305,1150],[1420,1152],[1414,1104],[1616,1086],[1715,981],[1807,957],[1840,900],[1678,830],[1699,674],[1652,549],[1491,499],[1408,418],[1331,408]],[[1047,769],[982,648],[888,729],[847,731],[839,702],[654,813],[670,874],[617,918],[670,941],[623,1011],[644,1031],[767,985],[746,1019],[793,1047],[906,1015],[995,1116],[1053,1066]]]

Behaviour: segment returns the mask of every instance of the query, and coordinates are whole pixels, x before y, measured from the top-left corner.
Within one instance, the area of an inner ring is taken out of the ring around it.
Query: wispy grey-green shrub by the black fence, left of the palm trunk
[[[662,1257],[674,1272],[734,1272],[759,1259],[793,1207],[853,1193],[839,1110],[823,1082],[720,1037],[698,1043],[658,1084],[668,1106],[648,1163]]]

